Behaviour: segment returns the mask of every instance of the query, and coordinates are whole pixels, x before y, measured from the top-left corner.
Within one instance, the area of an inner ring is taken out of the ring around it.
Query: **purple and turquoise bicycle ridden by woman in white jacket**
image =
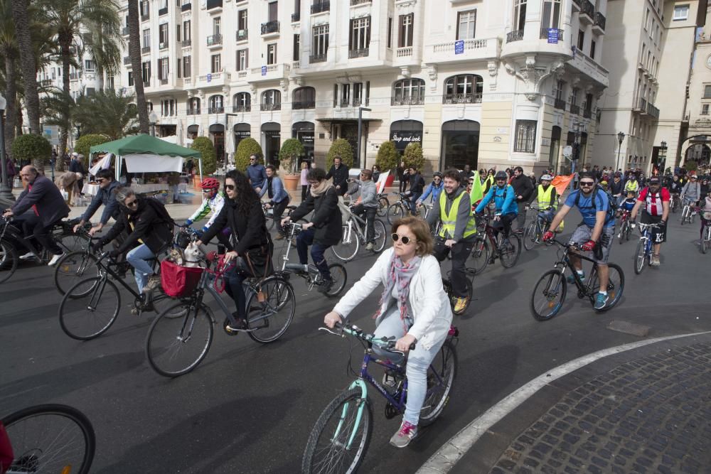
[[[375,338],[358,326],[336,325],[336,330],[320,328],[333,335],[357,339],[365,350],[360,372],[356,373],[348,361],[350,372],[356,379],[344,392],[331,401],[316,421],[306,443],[301,463],[302,473],[354,473],[363,462],[373,433],[373,403],[368,396],[368,384],[383,395],[386,401],[385,418],[392,419],[405,412],[407,402],[407,377],[405,365],[397,365],[373,352],[373,346],[402,355],[394,350],[395,338]],[[456,343],[459,331],[452,326],[437,356],[427,370],[427,395],[422,405],[419,426],[432,424],[449,402],[451,388],[457,371]],[[413,345],[414,346],[414,345]],[[414,349],[414,347],[410,347]],[[393,387],[385,388],[368,373],[373,362],[394,376]]]

